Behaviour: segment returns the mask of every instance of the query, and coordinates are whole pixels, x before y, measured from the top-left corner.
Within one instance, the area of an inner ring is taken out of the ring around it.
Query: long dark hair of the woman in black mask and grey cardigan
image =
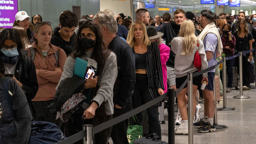
[[[81,57],[85,55],[85,49],[82,47],[80,43],[79,36],[81,35],[81,31],[85,28],[90,28],[96,36],[96,41],[95,45],[93,48],[92,56],[90,58],[94,59],[97,62],[97,72],[96,75],[100,75],[102,73],[102,69],[105,64],[105,60],[107,56],[109,55],[110,51],[108,49],[104,48],[103,41],[102,41],[102,35],[100,33],[99,26],[93,22],[85,21],[79,25],[79,30],[78,30],[78,36],[77,36],[77,43],[76,43],[76,50],[72,53],[72,57]],[[97,94],[97,90],[99,89],[99,86],[97,84],[96,88],[93,88],[93,92],[91,95],[91,98],[94,98],[95,95]],[[97,108],[95,112],[95,121],[97,122],[104,122],[106,120],[106,113],[105,113],[105,102],[101,104],[99,108]]]

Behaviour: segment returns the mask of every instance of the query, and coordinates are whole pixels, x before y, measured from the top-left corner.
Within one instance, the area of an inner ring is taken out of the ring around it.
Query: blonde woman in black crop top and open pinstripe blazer
[[[132,97],[132,106],[145,104],[164,94],[163,75],[160,50],[156,42],[148,40],[146,25],[137,21],[132,24],[127,43],[131,46],[135,57],[136,83]],[[147,109],[149,134],[154,132],[161,138],[161,126],[158,119],[158,106],[161,102]],[[142,113],[137,114],[142,122]]]

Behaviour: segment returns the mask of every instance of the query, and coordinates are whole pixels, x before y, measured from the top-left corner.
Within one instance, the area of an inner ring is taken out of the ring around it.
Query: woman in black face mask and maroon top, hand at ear
[[[222,45],[223,45],[223,53],[226,54],[226,57],[230,57],[234,55],[234,49],[236,46],[236,38],[232,35],[231,26],[229,24],[224,24],[222,26]],[[233,65],[234,59],[227,60],[227,74],[228,74],[228,87],[227,92],[232,92],[232,82],[233,82]],[[221,76],[222,80],[222,76]],[[224,90],[224,89],[223,89]]]

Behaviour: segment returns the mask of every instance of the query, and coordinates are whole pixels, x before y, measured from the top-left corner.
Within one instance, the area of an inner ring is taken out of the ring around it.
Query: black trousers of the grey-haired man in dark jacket
[[[131,103],[128,103],[125,105],[125,107],[118,109],[114,107],[114,115],[113,118],[120,116],[132,109]],[[112,132],[111,132],[111,138],[113,140],[114,144],[129,144],[127,140],[127,127],[128,127],[128,119],[119,122],[116,125],[113,125]]]

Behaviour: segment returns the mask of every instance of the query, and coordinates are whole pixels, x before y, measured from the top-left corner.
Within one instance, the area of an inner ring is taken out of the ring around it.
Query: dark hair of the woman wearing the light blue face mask
[[[0,35],[0,46],[2,47],[5,40],[12,40],[17,43],[17,50],[20,52],[22,49],[22,42],[20,40],[20,36],[15,29],[7,28],[4,29]]]

